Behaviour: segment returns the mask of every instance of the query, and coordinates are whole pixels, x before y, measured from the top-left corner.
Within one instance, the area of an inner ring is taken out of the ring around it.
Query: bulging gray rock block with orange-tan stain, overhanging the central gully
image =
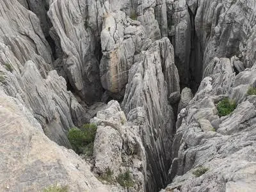
[[[116,97],[124,96],[134,55],[147,49],[151,40],[140,22],[126,19],[124,12],[109,13],[104,17],[100,39],[103,53],[100,61],[102,86]]]

